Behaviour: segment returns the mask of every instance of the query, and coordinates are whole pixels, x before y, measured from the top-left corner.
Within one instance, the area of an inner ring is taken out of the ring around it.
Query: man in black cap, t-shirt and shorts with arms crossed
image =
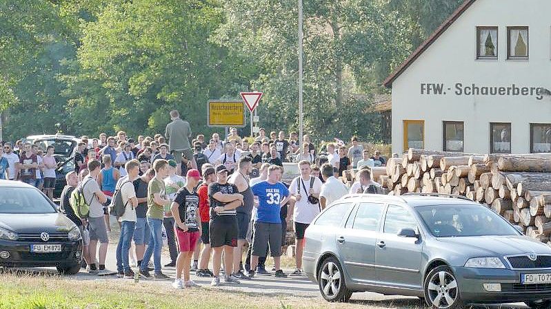
[[[220,265],[224,252],[224,281],[239,283],[230,275],[233,264],[233,248],[237,246],[239,227],[235,209],[243,204],[243,195],[234,184],[228,183],[228,169],[223,164],[216,168],[217,182],[208,186],[210,198],[210,247],[214,251],[212,268],[214,277],[211,286],[220,285]]]

